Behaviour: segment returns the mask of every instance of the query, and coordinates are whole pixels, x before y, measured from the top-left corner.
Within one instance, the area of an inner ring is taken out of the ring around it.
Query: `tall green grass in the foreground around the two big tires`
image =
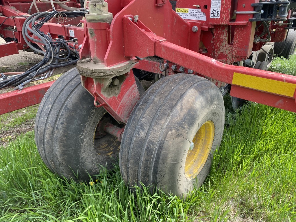
[[[76,184],[51,173],[33,132],[0,149],[0,221],[296,221],[296,114],[234,114],[205,184],[187,200],[132,193],[118,165]]]

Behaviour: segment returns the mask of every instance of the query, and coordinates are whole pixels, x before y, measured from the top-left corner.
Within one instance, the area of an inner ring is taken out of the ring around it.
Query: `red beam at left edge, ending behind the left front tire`
[[[52,83],[54,81],[0,94],[0,115],[40,103]]]

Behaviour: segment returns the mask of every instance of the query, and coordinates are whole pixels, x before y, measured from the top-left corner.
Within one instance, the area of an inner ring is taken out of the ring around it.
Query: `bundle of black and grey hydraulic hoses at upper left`
[[[7,87],[20,89],[36,76],[45,75],[45,78],[47,78],[52,74],[53,69],[75,64],[79,60],[79,52],[70,46],[64,38],[52,39],[49,33],[45,34],[40,29],[44,23],[53,19],[61,22],[67,18],[85,16],[86,12],[88,12],[86,9],[62,12],[53,10],[51,12],[36,12],[30,15],[22,26],[22,35],[26,44],[36,53],[44,55],[44,58],[19,75],[5,78],[3,78],[5,75],[2,75],[1,78],[0,74],[0,89]],[[37,38],[34,38],[34,36]],[[44,49],[41,48],[40,44],[44,45]]]

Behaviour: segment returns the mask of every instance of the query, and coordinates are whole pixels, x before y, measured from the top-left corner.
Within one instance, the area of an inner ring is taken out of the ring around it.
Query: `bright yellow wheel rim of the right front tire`
[[[192,147],[189,149],[185,161],[185,176],[188,180],[194,179],[205,165],[211,152],[214,140],[214,123],[209,120],[202,124],[195,134]]]

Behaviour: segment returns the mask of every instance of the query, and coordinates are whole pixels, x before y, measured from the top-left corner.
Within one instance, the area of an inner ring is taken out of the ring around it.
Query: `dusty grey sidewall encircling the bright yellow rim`
[[[157,187],[161,189],[167,188],[171,193],[180,197],[183,196],[186,198],[186,195],[194,187],[200,187],[202,185],[210,172],[213,154],[221,143],[225,119],[223,97],[216,86],[213,86],[213,84],[211,86],[212,89],[209,90],[206,99],[203,96],[187,98],[188,104],[194,105],[187,109],[187,112],[183,115],[180,115],[180,113],[182,112],[181,110],[186,110],[186,104],[180,103],[178,105],[179,109],[177,109],[179,112],[173,113],[170,117],[171,119],[178,120],[178,124],[171,121],[167,126],[171,130],[166,134],[161,149],[160,162],[162,164],[158,164],[157,181],[159,183]],[[215,127],[210,155],[200,173],[194,179],[188,180],[185,176],[185,162],[190,142],[200,127],[209,120],[214,123]],[[170,148],[172,146],[176,147],[176,149],[172,150]],[[170,153],[168,153],[168,150],[170,150]],[[165,181],[163,181],[163,178],[166,178]],[[160,187],[160,184],[166,184],[167,187]]]

